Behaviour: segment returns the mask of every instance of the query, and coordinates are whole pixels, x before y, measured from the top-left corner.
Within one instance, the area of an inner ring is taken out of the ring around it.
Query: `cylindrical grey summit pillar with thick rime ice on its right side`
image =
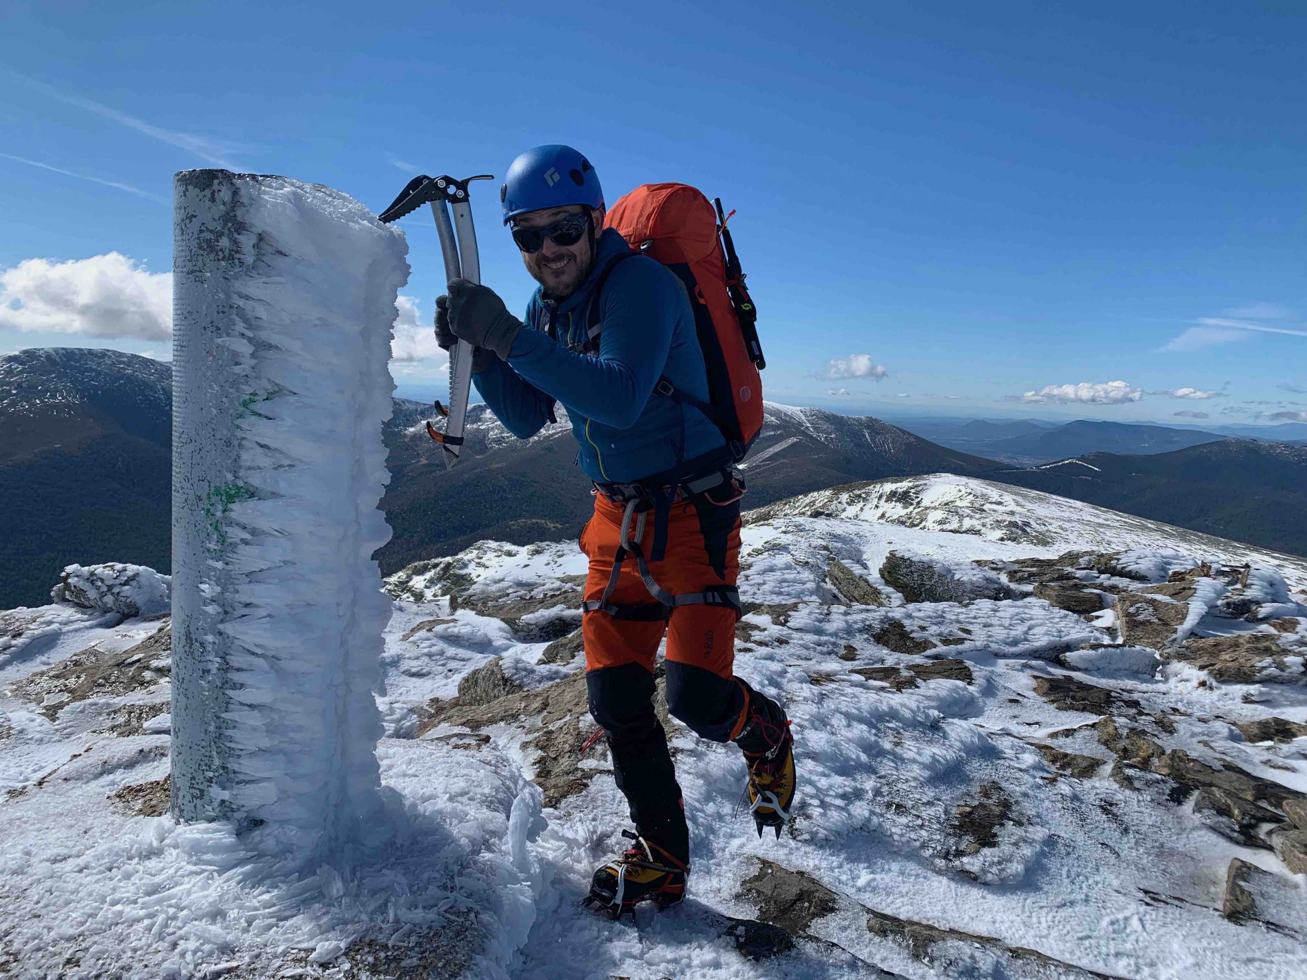
[[[406,246],[280,176],[174,195],[173,811],[335,848],[384,826],[371,555]]]

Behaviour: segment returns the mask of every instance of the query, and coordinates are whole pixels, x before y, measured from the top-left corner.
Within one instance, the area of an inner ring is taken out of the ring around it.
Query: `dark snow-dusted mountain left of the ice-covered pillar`
[[[173,370],[118,350],[0,357],[0,606],[65,564],[171,567]]]

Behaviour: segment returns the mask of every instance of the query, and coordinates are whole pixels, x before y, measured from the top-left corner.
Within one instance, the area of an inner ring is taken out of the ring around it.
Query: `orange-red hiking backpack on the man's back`
[[[767,362],[758,342],[758,312],[727,230],[729,217],[720,199],[714,212],[708,199],[686,184],[644,184],[609,209],[604,226],[617,229],[631,248],[657,259],[685,285],[708,370],[708,402],[676,391],[667,378],[659,378],[654,391],[702,410],[738,463],[762,429],[758,371]]]

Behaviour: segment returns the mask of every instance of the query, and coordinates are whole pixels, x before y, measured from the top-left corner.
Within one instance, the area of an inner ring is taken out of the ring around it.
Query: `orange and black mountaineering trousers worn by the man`
[[[639,832],[689,862],[681,789],[667,736],[654,713],[654,661],[667,635],[668,711],[703,738],[725,742],[748,720],[750,689],[735,678],[735,593],[740,575],[740,502],[703,495],[663,506],[595,497],[580,534],[586,578],[586,685],[589,712],[608,732],[613,774]],[[627,546],[622,547],[623,517]],[[651,581],[640,575],[638,551]],[[617,576],[614,562],[621,558]],[[667,605],[651,592],[690,601]],[[603,606],[603,608],[599,608]]]

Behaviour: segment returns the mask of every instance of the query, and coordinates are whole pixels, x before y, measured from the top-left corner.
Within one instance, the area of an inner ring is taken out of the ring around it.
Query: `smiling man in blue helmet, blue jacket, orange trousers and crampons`
[[[789,818],[789,723],[733,676],[740,570],[738,474],[716,425],[665,378],[708,400],[694,314],[681,281],[604,229],[599,175],[569,146],[537,146],[508,167],[503,221],[540,289],[525,323],[465,280],[437,301],[437,336],[476,348],[473,379],[499,421],[528,439],[562,402],[596,487],[580,534],[589,558],[582,635],[589,711],[608,734],[630,804],[633,845],[593,877],[614,916],[684,898],[689,832],[667,737],[654,713],[654,659],[667,632],[667,700],[703,738],[735,741],[752,813],[776,835]],[[661,387],[661,385],[660,385]],[[637,561],[631,562],[634,557]]]

